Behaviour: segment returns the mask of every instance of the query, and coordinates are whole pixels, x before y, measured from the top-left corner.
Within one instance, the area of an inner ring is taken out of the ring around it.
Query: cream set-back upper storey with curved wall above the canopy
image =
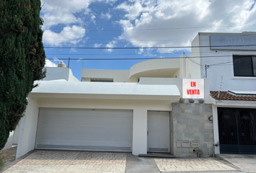
[[[138,82],[145,78],[200,78],[200,68],[185,55],[181,58],[160,58],[142,61],[127,70],[82,69],[82,81],[112,80]]]

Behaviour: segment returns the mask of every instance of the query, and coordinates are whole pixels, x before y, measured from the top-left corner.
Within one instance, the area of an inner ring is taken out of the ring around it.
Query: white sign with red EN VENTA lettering
[[[204,79],[183,79],[182,91],[184,99],[204,99]]]

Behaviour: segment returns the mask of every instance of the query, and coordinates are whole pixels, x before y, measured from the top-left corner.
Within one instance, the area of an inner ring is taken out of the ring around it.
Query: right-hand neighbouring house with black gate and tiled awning
[[[192,45],[210,83],[215,153],[256,154],[256,32],[200,32]]]

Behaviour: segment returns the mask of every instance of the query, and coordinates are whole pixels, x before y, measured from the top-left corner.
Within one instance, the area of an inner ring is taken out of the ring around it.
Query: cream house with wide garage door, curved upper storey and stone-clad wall
[[[177,157],[195,157],[200,148],[212,156],[208,79],[201,84],[204,102],[179,102],[183,78],[200,78],[189,63],[182,55],[137,63],[129,71],[82,69],[81,82],[39,81],[27,97],[17,158],[34,148]]]

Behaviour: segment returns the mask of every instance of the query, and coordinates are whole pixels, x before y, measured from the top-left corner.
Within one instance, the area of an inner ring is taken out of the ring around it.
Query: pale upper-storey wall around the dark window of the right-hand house
[[[228,50],[229,47],[226,47],[227,50],[211,50],[210,35],[231,35],[231,37],[236,38],[241,35],[256,36],[256,33],[199,32],[193,40],[192,46],[198,45],[200,48],[192,48],[192,53],[189,55],[193,61],[202,65],[199,66],[196,63],[193,65],[195,68],[196,66],[197,68],[200,67],[200,78],[206,77],[205,64],[209,66],[209,68],[207,68],[207,78],[210,81],[210,91],[218,91],[220,90],[220,87],[221,91],[255,91],[256,77],[234,76],[233,56],[256,56],[256,50]],[[221,76],[223,76],[222,84]]]

